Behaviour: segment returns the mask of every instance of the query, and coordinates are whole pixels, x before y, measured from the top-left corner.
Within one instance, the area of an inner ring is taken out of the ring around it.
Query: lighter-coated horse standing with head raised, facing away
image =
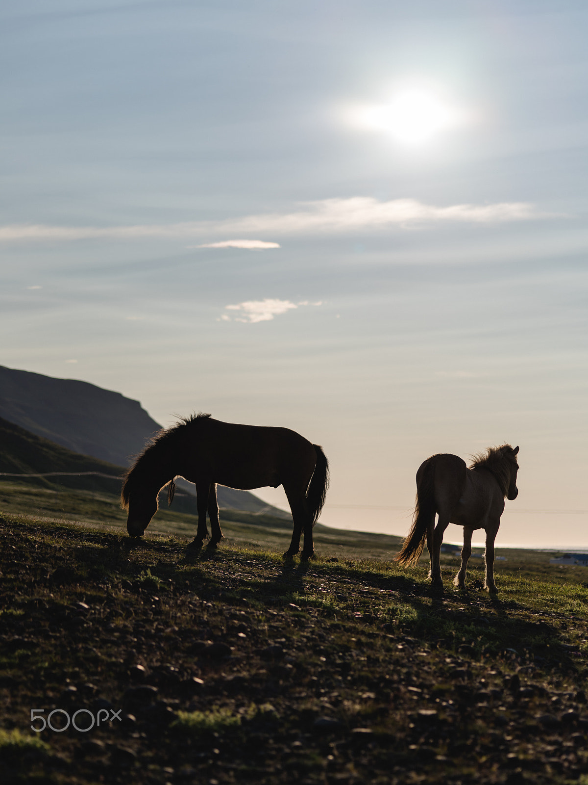
[[[416,473],[416,508],[412,528],[395,559],[408,566],[416,564],[425,545],[429,551],[432,585],[443,590],[441,542],[448,524],[463,526],[462,566],[453,583],[466,588],[467,560],[472,552],[475,529],[486,531],[485,589],[497,594],[494,582],[494,541],[504,510],[504,497],[517,498],[518,447],[503,444],[488,447],[475,456],[468,469],[457,455],[432,455]],[[435,513],[438,513],[435,526]]]

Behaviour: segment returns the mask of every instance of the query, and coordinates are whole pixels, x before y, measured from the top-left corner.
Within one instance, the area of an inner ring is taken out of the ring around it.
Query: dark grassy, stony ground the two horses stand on
[[[233,513],[193,554],[180,513],[135,542],[114,498],[8,486],[2,783],[588,783],[586,568],[503,551],[494,599],[447,556],[437,597],[397,538],[285,563],[283,521]]]

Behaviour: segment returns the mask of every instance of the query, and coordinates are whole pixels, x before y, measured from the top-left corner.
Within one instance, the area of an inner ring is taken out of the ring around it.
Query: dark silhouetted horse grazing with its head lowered
[[[328,488],[328,461],[318,444],[310,444],[288,428],[258,428],[213,420],[210,414],[182,418],[172,428],[162,430],[136,458],[125,475],[121,505],[129,510],[126,528],[131,537],[140,537],[158,511],[158,494],[168,487],[172,503],[176,476],[196,485],[198,530],[191,547],[201,548],[208,538],[206,513],[212,531],[209,545],[221,539],[216,484],[241,490],[284,486],[294,529],[292,542],[284,554],[299,551],[301,558],[314,553],[312,529],[318,520]]]

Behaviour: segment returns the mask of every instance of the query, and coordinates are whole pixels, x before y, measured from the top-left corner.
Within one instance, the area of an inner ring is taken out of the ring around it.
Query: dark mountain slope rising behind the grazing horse
[[[129,466],[132,457],[140,452],[146,441],[162,427],[147,414],[138,400],[125,398],[120,392],[106,390],[89,382],[79,382],[77,379],[57,379],[30,371],[16,371],[2,365],[0,418],[20,425],[20,428],[29,432],[29,436],[35,434],[53,442],[53,447],[65,447],[67,451],[78,454],[78,459],[94,460],[96,466],[99,463],[103,466],[106,462],[110,468],[104,470],[104,473],[121,473],[121,467]],[[25,444],[31,447],[31,440],[24,440],[21,445],[24,452]],[[49,456],[49,452],[45,451],[45,455]],[[26,455],[18,455],[20,458],[15,459],[23,461],[25,466]],[[55,452],[53,457],[59,462]],[[63,469],[61,463],[59,466],[59,469],[37,471],[70,470]],[[13,471],[17,472],[19,469]],[[62,480],[59,481],[62,484]],[[109,480],[105,482],[108,483]],[[194,486],[191,484],[181,480],[178,484],[182,491],[194,494]],[[268,512],[278,517],[290,517],[289,513],[267,505],[248,491],[237,491],[221,485],[218,487],[217,496],[219,506],[225,509],[240,509],[251,513]]]

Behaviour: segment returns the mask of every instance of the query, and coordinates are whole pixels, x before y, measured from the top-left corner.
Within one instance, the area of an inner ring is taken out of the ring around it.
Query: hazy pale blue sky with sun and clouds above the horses
[[[292,428],[343,528],[518,444],[498,544],[588,547],[587,39],[583,0],[4,0],[0,364]]]

